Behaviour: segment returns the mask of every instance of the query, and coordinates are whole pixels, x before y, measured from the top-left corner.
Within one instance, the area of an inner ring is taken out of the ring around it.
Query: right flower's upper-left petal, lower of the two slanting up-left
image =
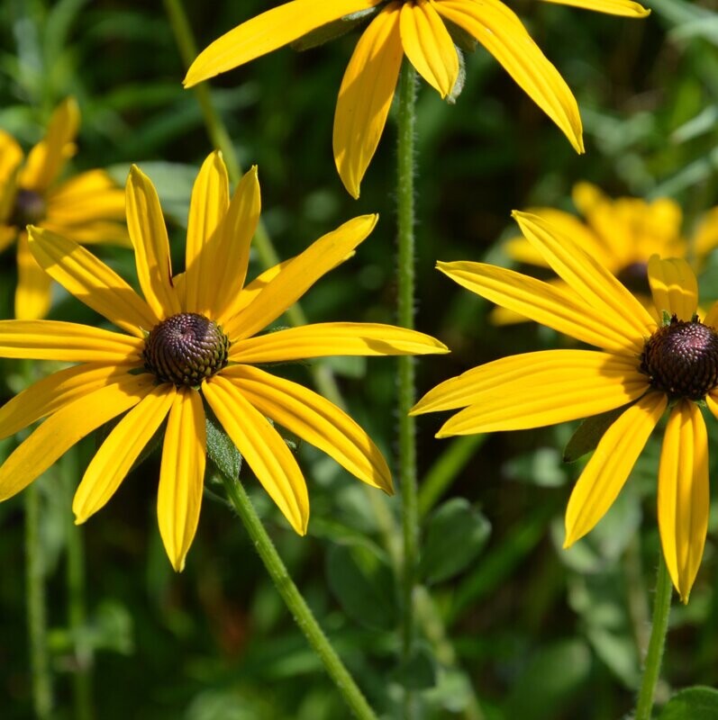
[[[643,350],[643,338],[623,336],[605,325],[603,315],[548,283],[483,263],[437,263],[459,285],[504,308],[606,350]]]

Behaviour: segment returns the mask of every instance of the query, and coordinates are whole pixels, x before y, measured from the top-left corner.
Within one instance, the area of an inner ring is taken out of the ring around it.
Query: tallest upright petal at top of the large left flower
[[[230,181],[222,153],[215,150],[204,160],[192,188],[187,222],[185,255],[185,310],[207,315],[217,297],[217,275],[225,262],[210,257],[208,246],[216,242],[230,204]],[[227,253],[225,256],[230,257]]]

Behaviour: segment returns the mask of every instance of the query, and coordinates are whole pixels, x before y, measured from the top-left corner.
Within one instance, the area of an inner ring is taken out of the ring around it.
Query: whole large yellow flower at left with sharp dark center
[[[386,462],[357,423],[316,393],[259,367],[331,355],[447,352],[422,333],[369,323],[330,322],[258,335],[350,257],[377,216],[346,222],[245,285],[259,220],[256,168],[244,175],[230,200],[222,157],[215,152],[205,160],[192,193],[181,275],[172,275],[155,188],[137,167],[126,195],[144,299],[84,247],[49,229],[29,229],[38,263],[123,332],[51,320],[0,321],[0,356],[78,364],[32,385],[0,409],[0,437],[46,418],[0,467],[0,500],[22,491],[81,437],[126,413],[77,488],[73,510],[77,523],[85,522],[110,500],[167,418],[159,532],[180,571],[202,500],[205,403],[299,534],[309,517],[306,484],[270,420],[331,455],[359,480],[391,492]]]

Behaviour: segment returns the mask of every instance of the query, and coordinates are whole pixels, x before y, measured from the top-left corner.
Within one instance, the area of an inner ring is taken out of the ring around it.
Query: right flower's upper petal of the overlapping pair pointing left
[[[511,388],[518,394],[530,391],[532,386],[541,389],[544,383],[556,383],[560,378],[565,378],[567,382],[579,382],[589,376],[594,376],[594,382],[598,379],[615,383],[643,381],[648,389],[648,378],[638,372],[636,357],[593,350],[541,350],[502,357],[452,377],[427,392],[414,405],[411,414],[465,408],[480,401],[487,392],[499,388],[502,392],[504,388]]]

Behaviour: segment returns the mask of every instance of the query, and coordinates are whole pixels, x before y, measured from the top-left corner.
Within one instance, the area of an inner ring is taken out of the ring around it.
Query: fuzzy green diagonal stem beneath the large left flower
[[[277,553],[267,531],[257,515],[257,511],[251,504],[247,491],[244,490],[241,482],[222,477],[227,496],[232,502],[232,507],[240,516],[244,527],[250,535],[252,543],[257,548],[259,557],[267,568],[269,577],[286,603],[292,617],[299,629],[304,633],[314,652],[319,655],[324,668],[334,681],[337,689],[341,692],[347,705],[354,716],[359,720],[377,720],[374,711],[369,707],[367,699],[362,695],[357,683],[351,677],[349,671],[341,662],[341,658],[334,650],[332,644],[322,628],[317,623],[312,610],[306,604],[302,594],[297,589],[294,581],[289,577],[286,566]]]

